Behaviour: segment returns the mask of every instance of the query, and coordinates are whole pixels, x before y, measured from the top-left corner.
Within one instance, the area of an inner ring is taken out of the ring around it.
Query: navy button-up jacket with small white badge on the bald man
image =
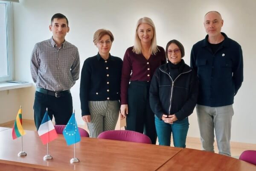
[[[221,34],[225,39],[215,53],[209,47],[208,35],[193,45],[191,51],[190,66],[199,78],[198,104],[204,106],[233,104],[244,78],[241,46]]]

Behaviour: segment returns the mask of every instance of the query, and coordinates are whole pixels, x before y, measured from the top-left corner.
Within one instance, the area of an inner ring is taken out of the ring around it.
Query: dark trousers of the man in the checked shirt
[[[54,116],[56,125],[67,125],[73,112],[71,93],[56,98],[52,95],[35,92],[34,120],[37,130],[44,118],[46,108],[48,108],[48,115],[51,120]]]

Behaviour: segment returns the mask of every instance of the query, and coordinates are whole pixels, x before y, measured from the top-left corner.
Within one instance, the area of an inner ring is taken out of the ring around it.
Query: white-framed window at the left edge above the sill
[[[12,3],[0,0],[0,81],[13,79]]]

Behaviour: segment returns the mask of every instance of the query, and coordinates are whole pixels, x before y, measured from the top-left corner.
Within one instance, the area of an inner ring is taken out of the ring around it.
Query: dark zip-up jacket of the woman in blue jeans
[[[149,90],[150,107],[157,118],[175,114],[178,121],[192,114],[198,98],[198,78],[187,64],[175,80],[170,76],[168,63],[154,73]]]

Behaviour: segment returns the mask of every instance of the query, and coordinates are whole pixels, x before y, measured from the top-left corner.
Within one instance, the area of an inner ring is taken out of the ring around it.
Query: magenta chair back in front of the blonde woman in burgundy
[[[148,136],[128,130],[111,130],[99,134],[98,138],[151,144]]]

